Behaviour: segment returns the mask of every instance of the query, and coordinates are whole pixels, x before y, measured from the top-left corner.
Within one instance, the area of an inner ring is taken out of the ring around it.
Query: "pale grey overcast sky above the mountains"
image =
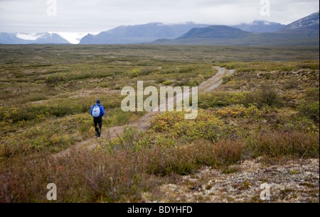
[[[289,24],[319,11],[319,0],[270,0],[270,16],[262,16],[261,1],[268,0],[0,0],[0,32],[99,33],[151,22]]]

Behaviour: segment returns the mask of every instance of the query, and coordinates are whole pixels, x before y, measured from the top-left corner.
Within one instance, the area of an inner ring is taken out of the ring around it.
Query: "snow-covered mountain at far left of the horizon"
[[[56,33],[0,33],[0,44],[70,44]]]

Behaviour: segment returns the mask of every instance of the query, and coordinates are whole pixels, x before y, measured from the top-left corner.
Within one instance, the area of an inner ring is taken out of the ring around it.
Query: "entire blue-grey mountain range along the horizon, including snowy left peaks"
[[[0,33],[0,44],[68,44],[56,33]],[[97,35],[86,35],[80,44],[319,46],[319,12],[281,23],[254,21],[238,26],[147,23],[119,26]]]

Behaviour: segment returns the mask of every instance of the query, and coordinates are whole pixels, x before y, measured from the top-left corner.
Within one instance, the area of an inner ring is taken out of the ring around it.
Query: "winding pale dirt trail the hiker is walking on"
[[[235,73],[235,69],[228,70],[221,67],[214,67],[214,68],[218,70],[218,73],[215,74],[210,79],[208,79],[206,82],[203,82],[202,84],[199,85],[198,87],[199,93],[213,91],[223,83],[223,77],[232,75]],[[182,101],[182,100],[183,100],[183,95],[178,94],[173,98],[167,99],[166,104],[168,104],[171,101]],[[162,108],[166,106],[166,104],[161,104],[159,107]],[[114,140],[119,135],[122,135],[122,133],[124,132],[124,128],[126,127],[135,127],[139,131],[146,131],[150,128],[149,119],[158,113],[161,113],[161,112],[150,111],[146,113],[144,116],[142,116],[142,118],[139,118],[137,121],[129,123],[126,126],[117,126],[117,127],[112,127],[112,128],[107,128],[105,130],[102,130],[102,136],[106,136],[110,138],[110,140]],[[102,129],[103,129],[103,126],[102,126]],[[98,139],[91,138],[89,140],[84,140],[74,145],[72,148],[69,148],[67,150],[64,150],[63,152],[59,152],[58,154],[55,154],[54,157],[65,157],[70,153],[71,150],[79,149],[79,148],[92,149],[92,148],[95,148],[97,145],[98,145]]]

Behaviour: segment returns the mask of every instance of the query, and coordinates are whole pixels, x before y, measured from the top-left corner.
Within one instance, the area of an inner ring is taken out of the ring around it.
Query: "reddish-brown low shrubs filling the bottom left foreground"
[[[50,202],[46,199],[49,183],[58,187],[57,202],[138,202],[142,192],[156,184],[129,150],[116,155],[82,151],[66,158],[33,158],[7,162],[6,169],[1,166],[1,202]]]

